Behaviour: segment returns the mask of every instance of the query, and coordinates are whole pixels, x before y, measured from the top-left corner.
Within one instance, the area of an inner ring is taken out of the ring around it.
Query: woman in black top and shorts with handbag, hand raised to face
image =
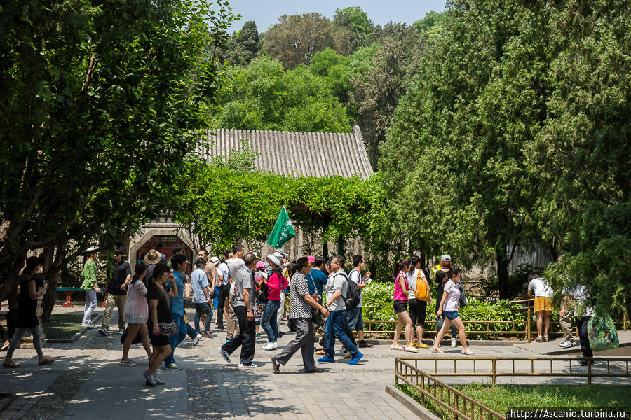
[[[167,280],[171,280],[173,288],[166,285]],[[170,324],[171,305],[169,297],[177,296],[177,283],[170,268],[159,262],[154,269],[154,276],[147,288],[147,301],[149,302],[149,317],[147,319],[147,329],[149,338],[154,346],[154,351],[149,358],[149,369],[144,372],[144,379],[147,379],[147,386],[163,385],[164,382],[156,377],[156,369],[162,361],[171,353],[169,334],[161,329],[161,324]],[[174,332],[177,328],[173,325]]]

